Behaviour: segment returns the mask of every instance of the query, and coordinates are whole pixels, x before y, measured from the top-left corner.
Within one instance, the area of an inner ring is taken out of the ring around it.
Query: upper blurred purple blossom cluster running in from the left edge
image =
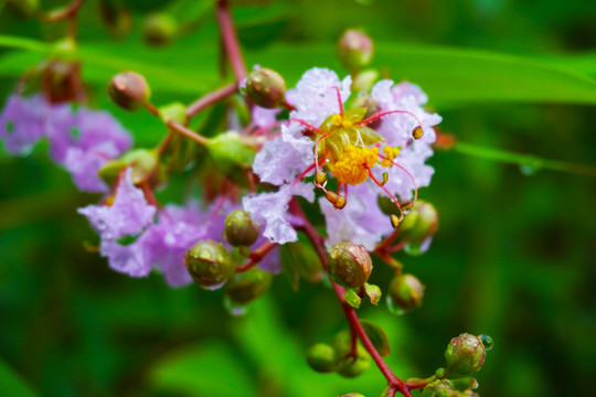
[[[131,146],[128,131],[107,111],[71,104],[50,104],[42,95],[13,95],[0,115],[0,140],[13,154],[26,154],[42,138],[52,159],[63,165],[82,191],[107,192],[97,175],[102,165]]]

